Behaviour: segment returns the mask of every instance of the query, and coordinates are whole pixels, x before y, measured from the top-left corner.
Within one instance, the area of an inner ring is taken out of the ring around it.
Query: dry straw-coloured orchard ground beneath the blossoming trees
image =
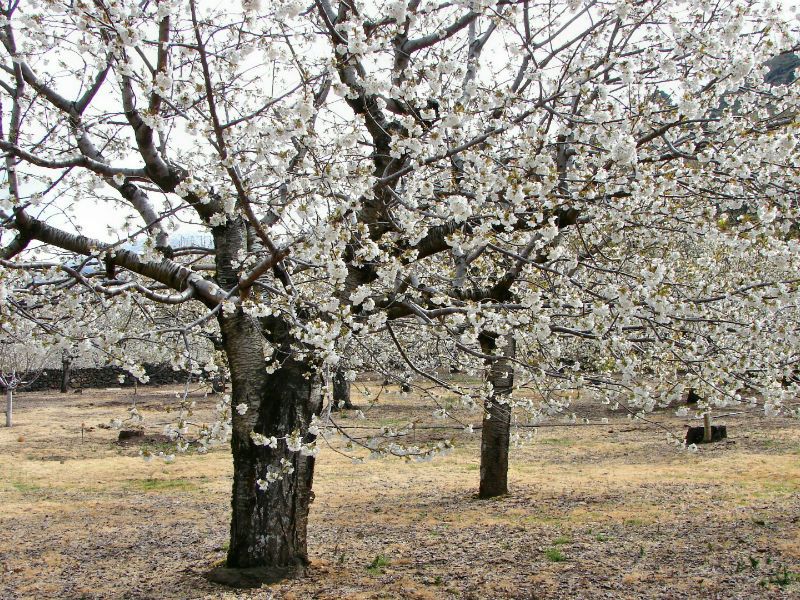
[[[415,394],[364,385],[353,399],[366,419],[342,423],[431,422]],[[147,433],[177,391],[139,389]],[[497,500],[475,497],[478,431],[449,432],[454,451],[426,463],[354,464],[326,448],[308,575],[231,590],[203,578],[225,556],[228,448],[145,463],[157,441],[123,446],[98,427],[132,394],[17,396],[15,426],[0,428],[1,598],[800,597],[797,421],[732,409],[719,421],[728,441],[687,453],[652,424],[578,401],[591,425],[540,428],[513,451],[512,492]],[[196,395],[194,420],[210,419],[216,398]],[[653,420],[678,434],[699,423]]]

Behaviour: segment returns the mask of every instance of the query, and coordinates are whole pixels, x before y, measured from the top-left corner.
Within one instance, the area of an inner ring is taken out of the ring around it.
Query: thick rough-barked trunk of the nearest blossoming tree
[[[233,410],[231,539],[226,568],[209,578],[256,587],[302,574],[308,565],[306,529],[314,498],[314,458],[289,450],[280,438],[299,431],[304,443],[314,440],[308,425],[321,410],[322,394],[313,366],[294,360],[287,348],[278,350],[280,368],[272,374],[265,371],[263,337],[255,320],[240,314],[220,321],[230,366],[231,405],[244,403],[248,410],[244,415]],[[251,432],[279,438],[277,448],[256,445]],[[282,478],[262,490],[257,481],[270,471],[283,471]]]

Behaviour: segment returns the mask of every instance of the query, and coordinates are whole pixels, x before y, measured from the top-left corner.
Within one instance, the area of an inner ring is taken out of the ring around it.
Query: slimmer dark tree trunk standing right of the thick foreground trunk
[[[514,336],[506,336],[507,344],[499,360],[486,366],[486,377],[492,384],[492,393],[486,399],[481,431],[481,483],[480,498],[493,498],[508,493],[508,447],[511,437],[511,407],[506,396],[514,386]],[[497,336],[483,333],[480,336],[484,354],[495,354]]]

